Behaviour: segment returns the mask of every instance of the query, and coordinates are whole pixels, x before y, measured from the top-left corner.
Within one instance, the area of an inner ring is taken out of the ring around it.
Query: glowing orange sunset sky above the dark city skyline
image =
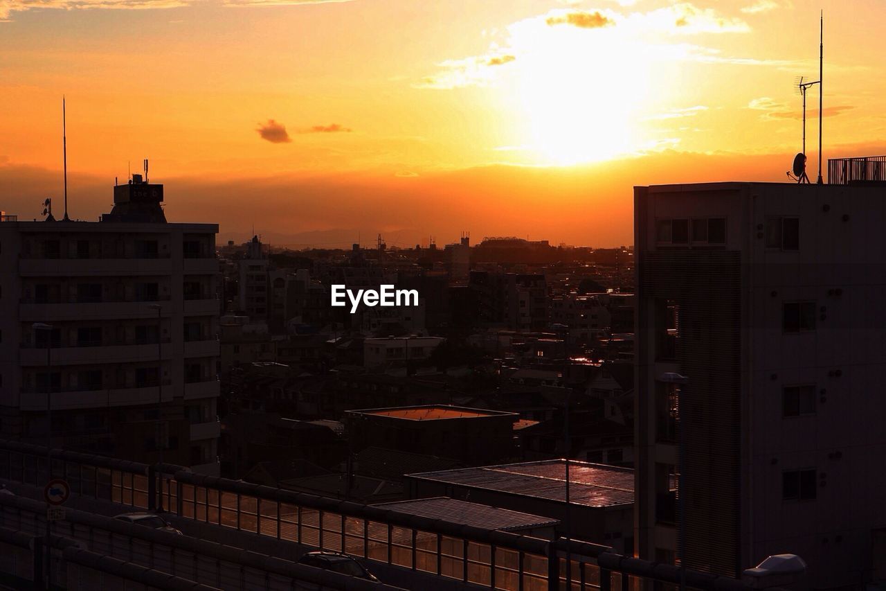
[[[0,208],[59,207],[64,93],[74,217],[148,157],[223,239],[628,244],[634,184],[785,178],[820,8],[825,155],[882,153],[877,0],[0,0]]]

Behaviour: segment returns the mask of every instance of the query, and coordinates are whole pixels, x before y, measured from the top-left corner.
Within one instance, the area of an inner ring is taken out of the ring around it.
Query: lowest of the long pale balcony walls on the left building
[[[163,401],[173,399],[170,384],[164,384]],[[102,390],[58,390],[50,394],[52,410],[107,408],[111,406],[156,405],[159,390],[156,385],[140,388],[108,388]],[[46,393],[21,390],[19,408],[22,411],[46,410]]]

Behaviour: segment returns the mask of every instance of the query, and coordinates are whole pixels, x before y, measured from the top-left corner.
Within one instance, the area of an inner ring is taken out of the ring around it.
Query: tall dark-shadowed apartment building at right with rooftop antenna
[[[886,577],[886,189],[640,186],[634,208],[638,555]]]

